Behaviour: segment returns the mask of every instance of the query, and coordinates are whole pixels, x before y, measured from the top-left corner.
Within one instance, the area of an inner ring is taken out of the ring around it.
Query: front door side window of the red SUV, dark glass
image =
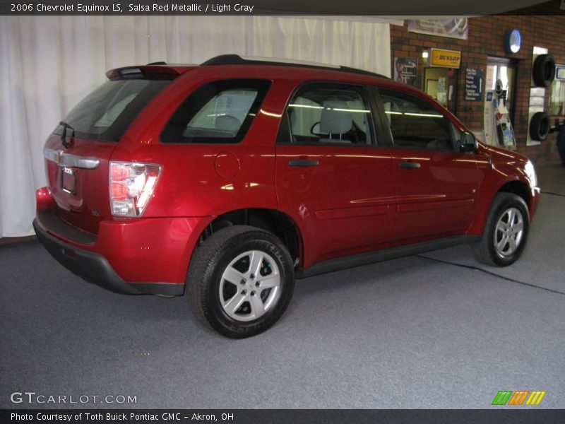
[[[395,90],[379,89],[394,146],[455,151],[453,125],[425,100]]]

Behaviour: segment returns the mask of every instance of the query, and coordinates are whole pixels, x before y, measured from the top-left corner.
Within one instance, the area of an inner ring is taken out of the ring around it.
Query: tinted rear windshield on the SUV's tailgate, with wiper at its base
[[[147,103],[170,81],[126,79],[106,81],[64,117],[79,139],[119,141]],[[67,129],[67,134],[72,134]],[[55,134],[63,134],[59,125]]]

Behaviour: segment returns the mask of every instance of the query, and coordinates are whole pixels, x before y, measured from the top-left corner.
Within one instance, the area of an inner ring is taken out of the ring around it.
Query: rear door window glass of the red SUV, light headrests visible
[[[287,107],[290,138],[297,144],[371,145],[371,119],[363,88],[343,84],[309,84]]]

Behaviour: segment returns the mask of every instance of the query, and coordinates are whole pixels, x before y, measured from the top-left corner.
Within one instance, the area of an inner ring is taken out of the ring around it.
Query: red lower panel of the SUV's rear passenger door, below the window
[[[293,158],[316,167],[289,167]],[[278,146],[278,208],[304,240],[301,264],[388,242],[394,228],[394,169],[388,148]]]

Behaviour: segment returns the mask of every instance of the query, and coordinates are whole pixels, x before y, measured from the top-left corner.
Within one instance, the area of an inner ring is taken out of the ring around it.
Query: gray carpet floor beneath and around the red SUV
[[[565,168],[540,179],[565,194]],[[109,293],[37,242],[1,246],[0,408],[31,407],[14,391],[136,408],[488,408],[503,389],[565,408],[565,294],[550,291],[565,293],[564,211],[543,196],[521,260],[488,269],[529,285],[406,257],[298,281],[283,319],[242,341],[184,298]],[[479,266],[468,246],[424,256]]]

